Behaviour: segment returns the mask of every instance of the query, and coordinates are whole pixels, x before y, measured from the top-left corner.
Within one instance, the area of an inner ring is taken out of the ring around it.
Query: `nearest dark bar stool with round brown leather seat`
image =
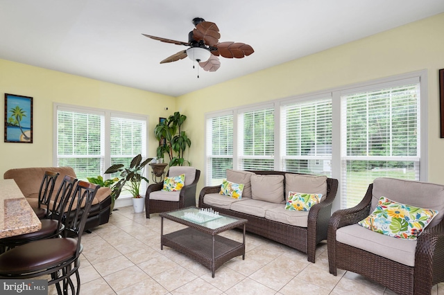
[[[82,233],[92,200],[100,186],[78,181],[74,193],[65,198],[62,238],[29,242],[0,255],[0,278],[27,279],[50,274],[48,285],[56,284],[58,294],[80,294],[80,253]],[[76,276],[74,286],[71,276]],[[60,285],[61,283],[61,285]]]

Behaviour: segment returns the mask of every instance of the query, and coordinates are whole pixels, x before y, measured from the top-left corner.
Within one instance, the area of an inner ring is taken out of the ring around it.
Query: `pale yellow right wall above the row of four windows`
[[[204,169],[200,134],[204,134],[207,112],[427,69],[428,181],[444,184],[438,94],[438,69],[444,68],[443,36],[441,14],[180,96],[183,114],[193,114],[187,120],[193,143],[189,159]],[[205,173],[198,191],[203,177]]]

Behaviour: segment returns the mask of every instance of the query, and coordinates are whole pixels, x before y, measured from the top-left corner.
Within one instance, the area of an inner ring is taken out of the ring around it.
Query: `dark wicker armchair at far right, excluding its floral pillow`
[[[357,222],[373,212],[379,197],[439,213],[417,240],[375,233]],[[427,294],[444,281],[444,186],[379,178],[353,208],[334,212],[328,228],[330,273],[353,271],[397,294]]]

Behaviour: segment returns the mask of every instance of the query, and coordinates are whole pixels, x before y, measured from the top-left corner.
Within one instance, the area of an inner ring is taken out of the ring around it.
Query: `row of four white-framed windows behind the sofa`
[[[420,71],[207,114],[206,184],[232,167],[327,175],[336,210],[377,177],[427,181],[426,85]]]

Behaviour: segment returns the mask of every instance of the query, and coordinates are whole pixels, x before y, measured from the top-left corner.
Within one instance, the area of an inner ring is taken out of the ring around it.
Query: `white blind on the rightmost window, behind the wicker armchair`
[[[419,180],[420,84],[341,97],[343,208],[358,204],[377,177]]]

